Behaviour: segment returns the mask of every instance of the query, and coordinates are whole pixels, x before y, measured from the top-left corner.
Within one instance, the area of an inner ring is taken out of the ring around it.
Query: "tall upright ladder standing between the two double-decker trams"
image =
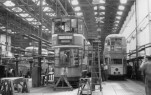
[[[92,64],[91,64],[91,78],[92,78],[92,91],[102,91],[101,79],[101,66],[100,66],[100,41],[92,42]],[[96,85],[99,89],[95,89]]]

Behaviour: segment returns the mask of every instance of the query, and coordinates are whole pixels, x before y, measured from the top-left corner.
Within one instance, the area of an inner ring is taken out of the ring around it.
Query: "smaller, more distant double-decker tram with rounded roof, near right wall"
[[[108,65],[108,77],[126,75],[126,39],[120,34],[110,34],[105,39],[104,63]]]

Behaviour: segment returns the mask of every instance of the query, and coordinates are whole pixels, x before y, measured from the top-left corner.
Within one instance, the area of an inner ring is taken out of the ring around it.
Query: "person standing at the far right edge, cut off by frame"
[[[146,95],[151,95],[151,56],[144,56],[144,61],[140,65],[140,70],[145,74]]]

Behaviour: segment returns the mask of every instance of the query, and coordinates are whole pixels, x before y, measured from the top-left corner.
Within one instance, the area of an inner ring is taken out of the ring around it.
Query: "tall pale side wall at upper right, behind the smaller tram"
[[[120,34],[127,39],[127,53],[136,49],[136,37],[138,38],[138,47],[151,43],[151,0],[136,0],[131,7],[121,30]],[[137,28],[136,28],[137,25]],[[137,35],[136,35],[137,29]],[[144,55],[145,52],[139,52],[138,56]],[[146,49],[146,54],[151,55],[151,49]],[[135,57],[136,55],[132,55]]]

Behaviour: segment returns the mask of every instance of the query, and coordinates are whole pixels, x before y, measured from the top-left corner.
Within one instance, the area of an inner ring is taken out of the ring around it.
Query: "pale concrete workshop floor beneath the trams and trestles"
[[[145,87],[139,81],[107,81],[102,83],[102,91],[94,91],[92,95],[146,95]],[[78,89],[56,90],[50,86],[30,88],[30,93],[15,93],[15,95],[77,95]]]

